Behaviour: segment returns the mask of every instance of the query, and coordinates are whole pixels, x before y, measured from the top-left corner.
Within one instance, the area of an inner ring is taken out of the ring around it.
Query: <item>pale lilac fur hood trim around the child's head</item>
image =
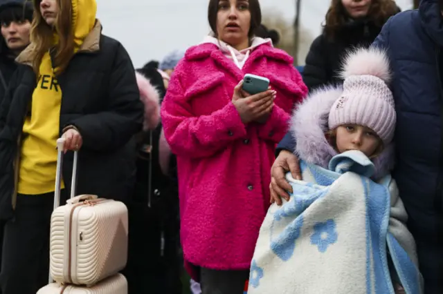
[[[329,130],[329,110],[342,93],[341,87],[320,88],[312,92],[293,112],[290,130],[297,142],[295,152],[309,164],[328,168],[329,161],[338,154],[327,141],[325,133]],[[390,143],[379,156],[372,159],[375,166],[374,179],[390,173],[394,161],[395,148]]]

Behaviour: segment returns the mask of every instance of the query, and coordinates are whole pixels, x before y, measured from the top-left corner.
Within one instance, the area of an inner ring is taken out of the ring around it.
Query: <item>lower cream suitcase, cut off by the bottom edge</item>
[[[37,294],[127,294],[127,281],[123,275],[118,273],[91,287],[60,283],[48,284],[41,288]]]

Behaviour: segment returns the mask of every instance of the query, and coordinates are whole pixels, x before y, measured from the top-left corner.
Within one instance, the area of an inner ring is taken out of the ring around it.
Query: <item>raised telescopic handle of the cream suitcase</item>
[[[57,172],[55,174],[55,193],[54,193],[54,209],[60,206],[60,194],[62,190],[62,166],[63,166],[63,150],[66,139],[57,139]],[[77,166],[78,166],[78,151],[74,151],[74,162],[72,169],[71,182],[71,198],[75,197],[77,188]]]

